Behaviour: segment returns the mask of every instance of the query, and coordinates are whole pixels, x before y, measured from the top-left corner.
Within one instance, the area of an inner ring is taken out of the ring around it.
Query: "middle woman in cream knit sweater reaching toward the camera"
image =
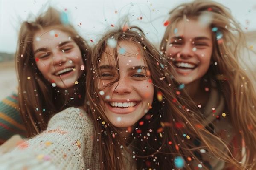
[[[46,131],[2,156],[0,166],[133,170],[173,165],[174,159],[163,158],[169,153],[162,153],[167,150],[162,141],[178,126],[172,114],[191,112],[178,102],[169,70],[140,28],[125,28],[106,33],[87,60],[86,107],[55,114]],[[172,141],[167,145],[175,147]]]

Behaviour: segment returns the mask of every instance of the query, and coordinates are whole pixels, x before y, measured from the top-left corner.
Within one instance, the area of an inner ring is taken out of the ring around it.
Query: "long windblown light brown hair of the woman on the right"
[[[218,28],[218,31],[212,31],[212,63],[217,64],[210,66],[206,77],[212,77],[217,82],[219,93],[225,98],[227,111],[231,116],[234,135],[237,139],[240,139],[238,140],[239,152],[235,155],[235,158],[232,158],[228,152],[218,152],[214,142],[223,143],[223,141],[220,138],[218,139],[218,136],[207,133],[207,131],[205,133],[195,133],[194,135],[205,141],[207,148],[212,153],[228,163],[225,168],[228,169],[228,167],[235,166],[239,169],[256,169],[256,143],[252,142],[256,141],[256,92],[254,79],[249,77],[239,64],[239,62],[244,61],[244,55],[241,54],[241,51],[246,49],[247,45],[244,33],[239,23],[230,14],[230,10],[222,4],[210,0],[195,0],[191,3],[183,3],[177,6],[169,12],[169,25],[164,33],[160,51],[168,60],[166,42],[169,34],[174,32],[177,22],[184,19],[198,20],[202,14],[211,16],[210,28]],[[222,42],[218,42],[217,36],[221,37]],[[240,163],[244,157],[241,149],[242,140],[246,148],[246,157]],[[226,149],[228,150],[228,148]],[[188,156],[187,154],[185,155]]]

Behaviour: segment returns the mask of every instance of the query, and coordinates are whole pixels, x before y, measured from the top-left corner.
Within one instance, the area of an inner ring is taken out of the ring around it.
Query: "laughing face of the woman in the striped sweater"
[[[70,36],[58,29],[42,29],[33,37],[36,65],[43,77],[59,88],[70,88],[83,74],[81,51]]]

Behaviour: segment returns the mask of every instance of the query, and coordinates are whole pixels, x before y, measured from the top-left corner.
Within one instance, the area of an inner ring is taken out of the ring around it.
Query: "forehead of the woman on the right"
[[[195,37],[207,37],[212,40],[212,31],[209,26],[202,25],[198,20],[180,20],[169,33],[169,37],[184,37],[193,39]]]

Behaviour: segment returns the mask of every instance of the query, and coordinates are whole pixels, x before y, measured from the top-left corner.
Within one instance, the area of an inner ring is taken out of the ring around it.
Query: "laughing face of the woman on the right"
[[[177,23],[169,34],[166,52],[177,71],[177,81],[188,85],[207,73],[212,56],[212,32],[196,20]]]

